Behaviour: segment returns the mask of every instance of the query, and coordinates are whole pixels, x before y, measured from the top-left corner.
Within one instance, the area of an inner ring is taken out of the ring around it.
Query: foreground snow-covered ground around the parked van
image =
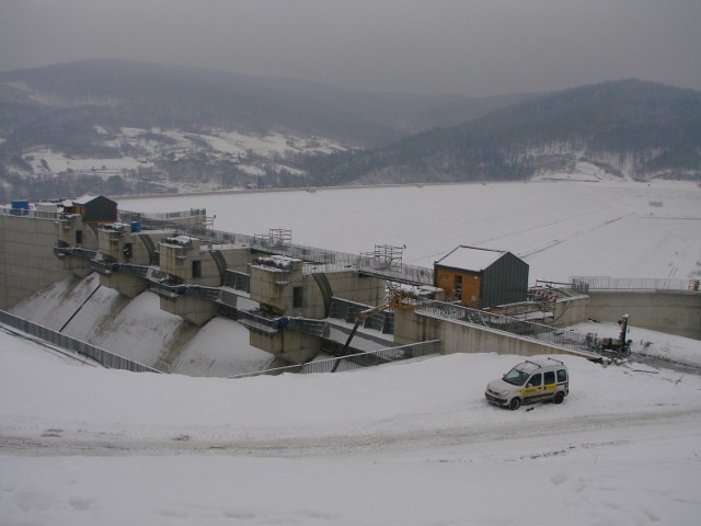
[[[563,404],[489,405],[520,359],[204,379],[0,331],[0,524],[698,524],[700,376],[564,357]]]

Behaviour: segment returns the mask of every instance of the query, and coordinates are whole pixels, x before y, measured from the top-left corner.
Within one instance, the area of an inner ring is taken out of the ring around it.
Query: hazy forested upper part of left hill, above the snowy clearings
[[[368,147],[527,96],[363,93],[294,79],[94,59],[0,72],[0,124],[281,132]]]

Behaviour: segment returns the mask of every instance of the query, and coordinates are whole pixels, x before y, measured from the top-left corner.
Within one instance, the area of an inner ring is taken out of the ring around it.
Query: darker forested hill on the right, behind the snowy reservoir
[[[623,80],[570,89],[387,148],[312,159],[326,184],[504,181],[572,172],[701,179],[701,92]]]

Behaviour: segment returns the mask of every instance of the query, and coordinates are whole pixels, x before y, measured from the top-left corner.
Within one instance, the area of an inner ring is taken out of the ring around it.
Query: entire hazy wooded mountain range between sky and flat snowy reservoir
[[[0,201],[232,187],[701,180],[701,92],[623,80],[473,99],[125,60],[0,72]]]

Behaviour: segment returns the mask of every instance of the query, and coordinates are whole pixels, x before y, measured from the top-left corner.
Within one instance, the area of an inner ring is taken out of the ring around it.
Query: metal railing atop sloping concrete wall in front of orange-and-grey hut
[[[598,356],[598,353],[591,348],[590,339],[586,334],[562,328],[522,321],[509,316],[495,315],[441,301],[422,304],[415,308],[415,312],[502,331],[515,336],[535,340],[538,343],[565,347],[570,351],[595,357]]]

